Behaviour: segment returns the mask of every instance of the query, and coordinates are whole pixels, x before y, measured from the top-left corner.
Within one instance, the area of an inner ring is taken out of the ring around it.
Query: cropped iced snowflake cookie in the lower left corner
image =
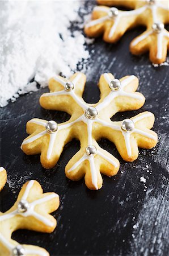
[[[53,232],[56,220],[49,213],[58,206],[59,196],[56,193],[43,193],[41,185],[35,180],[24,184],[11,209],[5,213],[0,212],[0,255],[48,256],[45,249],[35,245],[20,245],[11,236],[17,229]]]

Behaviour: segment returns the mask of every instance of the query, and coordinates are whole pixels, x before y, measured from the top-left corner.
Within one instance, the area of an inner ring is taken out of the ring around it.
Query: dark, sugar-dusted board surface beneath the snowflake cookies
[[[97,82],[104,72],[117,78],[136,75],[138,90],[146,97],[142,109],[116,114],[114,120],[132,117],[149,110],[155,114],[153,130],[159,135],[153,150],[140,149],[133,163],[121,159],[115,146],[106,139],[100,145],[115,155],[121,163],[119,174],[103,177],[103,187],[90,191],[84,180],[73,182],[66,178],[64,168],[79,149],[79,142],[65,146],[56,167],[45,170],[40,157],[24,155],[20,144],[27,137],[26,122],[33,118],[64,122],[69,115],[44,110],[39,97],[48,88],[20,97],[14,104],[1,109],[1,165],[6,168],[8,183],[1,192],[1,210],[5,212],[16,200],[25,181],[36,179],[44,191],[60,195],[61,204],[53,216],[57,228],[52,234],[18,230],[13,238],[20,243],[45,247],[50,255],[168,255],[168,66],[154,68],[148,55],[132,56],[130,41],[142,28],[129,31],[120,42],[109,45],[101,39],[89,46],[91,59],[87,64],[87,84],[84,100],[97,102]],[[146,183],[140,182],[140,177]]]

